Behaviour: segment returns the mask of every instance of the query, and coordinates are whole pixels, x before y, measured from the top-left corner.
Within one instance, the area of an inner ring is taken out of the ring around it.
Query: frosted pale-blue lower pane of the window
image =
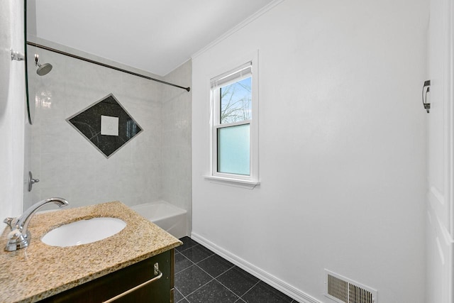
[[[218,128],[218,172],[250,175],[249,124]]]

